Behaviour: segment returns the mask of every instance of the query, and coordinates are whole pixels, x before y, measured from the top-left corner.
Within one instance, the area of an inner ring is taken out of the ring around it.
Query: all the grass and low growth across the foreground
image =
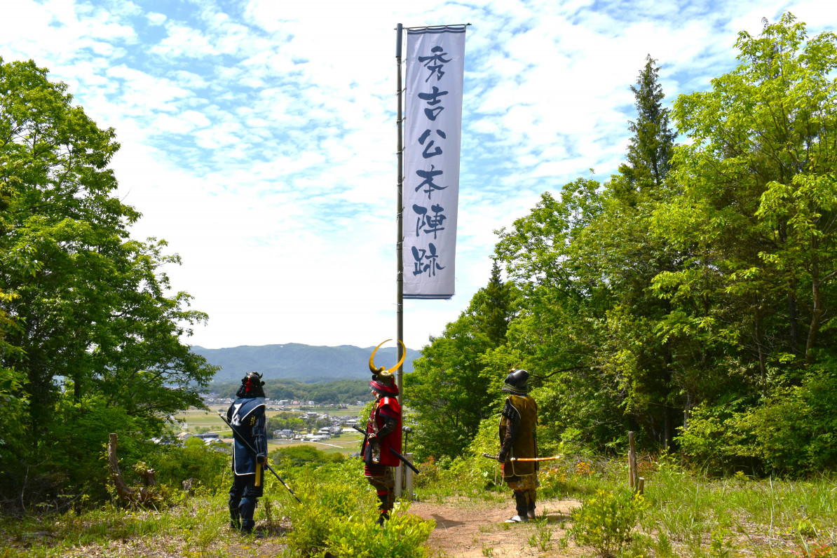
[[[377,499],[362,477],[362,463],[314,457],[309,463],[291,464],[285,458],[276,464],[304,505],[296,504],[278,482],[268,482],[256,510],[257,526],[271,535],[271,544],[284,548],[280,552],[410,558],[428,554],[425,545],[433,522],[410,515],[408,504],[403,503],[387,528],[376,530]],[[495,483],[493,467],[481,458],[420,463],[416,495],[460,506],[505,502],[508,489]],[[617,555],[835,555],[837,481],[833,476],[788,480],[737,474],[710,479],[668,459],[645,460],[642,470],[646,505]],[[182,493],[160,509],[127,509],[107,503],[64,514],[0,518],[0,558],[94,555],[97,551],[126,556],[155,552],[229,555],[232,547],[255,543],[229,529],[226,493],[230,479],[225,471],[217,486],[204,486],[192,495]],[[627,470],[624,460],[579,456],[551,462],[542,468],[540,479],[541,499],[587,501],[602,491],[624,491]],[[552,540],[552,529],[548,518],[543,518],[541,538],[529,541],[533,551],[545,552],[553,542],[567,545],[567,540]],[[389,546],[379,544],[382,540]],[[396,549],[394,554],[392,549]]]

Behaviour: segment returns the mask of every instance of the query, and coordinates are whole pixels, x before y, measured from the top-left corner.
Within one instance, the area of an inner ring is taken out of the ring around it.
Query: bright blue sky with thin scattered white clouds
[[[0,0],[0,56],[34,59],[116,129],[119,196],[209,314],[187,342],[377,345],[395,336],[395,25],[472,23],[456,295],[405,302],[419,349],[490,274],[496,229],[623,160],[634,84],[666,103],[732,69],[737,33],[812,2]]]

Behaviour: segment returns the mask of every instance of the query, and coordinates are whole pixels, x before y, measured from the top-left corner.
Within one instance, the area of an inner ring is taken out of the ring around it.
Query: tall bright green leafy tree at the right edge
[[[676,360],[704,378],[695,400],[714,410],[702,416],[737,416],[727,432],[747,438],[742,417],[770,415],[760,409],[786,386],[821,385],[812,374],[837,346],[837,38],[808,39],[786,13],[736,46],[736,69],[675,103],[691,143],[675,149],[682,195],[655,211],[654,229],[690,257],[655,289],[675,307],[664,335],[699,342]],[[767,460],[757,449],[727,452]]]

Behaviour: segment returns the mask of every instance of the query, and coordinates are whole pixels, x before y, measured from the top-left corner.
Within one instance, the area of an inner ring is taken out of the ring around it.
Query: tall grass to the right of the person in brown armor
[[[577,463],[578,464],[578,463]],[[588,499],[591,489],[626,488],[624,460],[570,463],[557,468],[556,492]],[[670,459],[644,463],[647,509],[622,555],[825,556],[837,555],[837,481],[710,479]],[[548,476],[547,476],[548,478]]]

